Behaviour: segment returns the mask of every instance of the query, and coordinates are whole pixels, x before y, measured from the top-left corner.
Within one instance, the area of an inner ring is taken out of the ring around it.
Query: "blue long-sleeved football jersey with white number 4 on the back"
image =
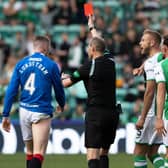
[[[43,55],[34,53],[15,66],[4,100],[3,116],[8,117],[14,97],[20,88],[20,107],[51,115],[52,87],[58,104],[63,107],[65,94],[58,65]]]

